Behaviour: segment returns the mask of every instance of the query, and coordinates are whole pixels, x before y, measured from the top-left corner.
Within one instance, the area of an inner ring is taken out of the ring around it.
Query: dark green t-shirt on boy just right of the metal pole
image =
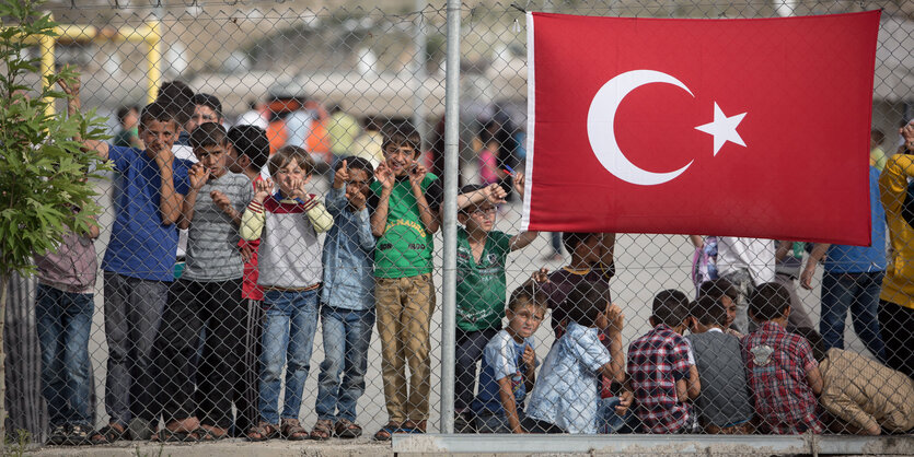
[[[489,232],[477,263],[463,227],[458,228],[458,328],[466,331],[500,328],[508,286],[505,265],[511,235]]]

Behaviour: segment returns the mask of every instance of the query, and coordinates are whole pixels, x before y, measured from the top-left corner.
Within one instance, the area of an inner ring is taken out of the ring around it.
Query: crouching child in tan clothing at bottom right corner
[[[819,402],[838,422],[837,433],[864,435],[914,430],[914,379],[872,359],[825,344],[815,330],[800,327],[822,374]]]

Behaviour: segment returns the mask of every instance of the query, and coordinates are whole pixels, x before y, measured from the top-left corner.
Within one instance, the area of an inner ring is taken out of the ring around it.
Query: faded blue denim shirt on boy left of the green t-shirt
[[[346,188],[331,188],[326,199],[334,224],[324,242],[321,302],[363,310],[374,306],[374,236],[368,209],[349,211]]]

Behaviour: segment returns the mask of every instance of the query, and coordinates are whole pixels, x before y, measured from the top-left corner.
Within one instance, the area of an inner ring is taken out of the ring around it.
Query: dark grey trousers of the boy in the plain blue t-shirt
[[[111,422],[127,426],[132,418],[152,420],[161,412],[150,368],[169,284],[105,271],[105,412]]]

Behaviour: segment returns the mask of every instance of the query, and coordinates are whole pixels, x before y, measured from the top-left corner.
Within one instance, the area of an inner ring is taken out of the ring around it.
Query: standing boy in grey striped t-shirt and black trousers
[[[246,318],[238,232],[242,211],[252,198],[251,181],[229,173],[222,126],[201,124],[190,133],[190,147],[198,162],[190,168],[190,189],[178,222],[188,230],[187,266],[162,318],[158,358],[165,415],[161,442],[227,436],[233,422],[232,392]],[[204,328],[205,349],[198,358]]]

